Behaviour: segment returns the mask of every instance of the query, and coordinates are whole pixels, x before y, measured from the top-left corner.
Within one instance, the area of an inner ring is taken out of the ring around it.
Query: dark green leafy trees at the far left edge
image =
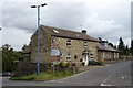
[[[13,51],[11,45],[4,44],[2,51],[2,72],[12,72],[16,69],[14,61],[22,56],[21,52]]]

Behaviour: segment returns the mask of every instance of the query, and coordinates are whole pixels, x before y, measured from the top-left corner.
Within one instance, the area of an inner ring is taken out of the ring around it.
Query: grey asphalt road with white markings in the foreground
[[[133,62],[132,62],[133,63]],[[131,61],[90,69],[71,77],[51,81],[14,81],[7,77],[3,86],[131,86]]]

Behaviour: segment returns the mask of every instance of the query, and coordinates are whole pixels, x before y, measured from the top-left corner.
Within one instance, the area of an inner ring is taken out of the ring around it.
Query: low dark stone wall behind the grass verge
[[[25,75],[31,75],[31,74],[35,74],[38,72],[38,67],[37,67],[37,63],[30,63],[30,62],[19,62],[18,63],[18,67],[16,70],[16,75],[14,76],[25,76]],[[48,70],[52,70],[52,72],[65,72],[65,70],[72,70],[73,74],[76,74],[79,72],[79,67],[76,66],[72,66],[72,67],[55,67],[55,66],[51,66],[51,64],[40,64],[40,72],[48,72]]]

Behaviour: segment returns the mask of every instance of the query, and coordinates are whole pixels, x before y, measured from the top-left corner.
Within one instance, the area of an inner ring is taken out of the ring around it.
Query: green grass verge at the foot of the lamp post
[[[63,78],[66,76],[73,75],[71,70],[66,72],[59,72],[59,73],[53,73],[51,70],[41,73],[40,76],[37,74],[33,75],[27,75],[23,77],[11,77],[11,80],[53,80],[53,79],[59,79]]]

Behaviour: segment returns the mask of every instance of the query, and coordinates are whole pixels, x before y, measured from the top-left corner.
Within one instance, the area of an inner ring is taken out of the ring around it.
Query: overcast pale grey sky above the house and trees
[[[119,44],[123,37],[131,40],[132,0],[10,0],[0,2],[0,45],[10,44],[21,50],[29,44],[37,29],[37,9],[32,4],[47,3],[41,8],[41,24],[81,32],[86,29],[93,37]],[[82,25],[82,28],[81,28]]]

